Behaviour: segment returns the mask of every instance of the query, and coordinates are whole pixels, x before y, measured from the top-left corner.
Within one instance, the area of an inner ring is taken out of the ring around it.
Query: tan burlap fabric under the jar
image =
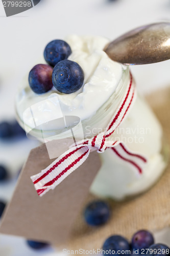
[[[170,87],[163,91],[148,95],[147,100],[160,120],[165,138],[170,144]],[[82,206],[95,197],[89,195]],[[109,222],[98,228],[86,225],[82,211],[72,229],[69,249],[101,248],[106,238],[112,234],[122,234],[131,238],[139,229],[157,230],[170,224],[170,164],[163,176],[147,193],[124,202],[109,201],[111,218]]]

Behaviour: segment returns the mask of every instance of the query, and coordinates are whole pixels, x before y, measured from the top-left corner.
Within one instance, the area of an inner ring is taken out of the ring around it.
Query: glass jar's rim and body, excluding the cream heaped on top
[[[44,138],[47,138],[48,141],[71,138],[73,130],[70,132],[70,129],[73,127],[76,141],[89,139],[106,129],[122,101],[129,82],[129,67],[122,66],[122,77],[114,93],[94,115],[88,119],[79,120],[78,125],[74,124],[75,119],[72,119],[72,124],[70,125],[69,122],[67,127],[62,127],[62,124],[59,125],[57,123],[57,129],[55,129],[56,118],[51,125],[49,125],[48,121],[41,122],[40,127],[30,127],[27,120],[23,121],[23,114],[26,110],[23,98],[27,96],[30,90],[27,85],[23,86],[16,98],[18,122],[27,133],[32,134],[42,142],[44,142]],[[40,100],[41,98],[39,97]],[[43,115],[43,113],[41,114]],[[130,164],[117,158],[115,153],[110,148],[107,148],[104,153],[100,154],[102,167],[93,181],[90,191],[93,194],[116,200],[123,200],[126,197],[143,193],[159,179],[165,169],[166,158],[163,153],[162,127],[141,96],[137,95],[128,116],[112,134],[112,139],[123,142],[131,152],[145,156],[148,163],[142,174],[139,175],[131,168]]]

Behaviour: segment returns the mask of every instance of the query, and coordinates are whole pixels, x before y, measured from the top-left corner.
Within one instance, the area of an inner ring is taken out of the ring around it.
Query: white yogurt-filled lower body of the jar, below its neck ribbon
[[[142,131],[142,133],[141,133]],[[137,97],[115,137],[132,152],[148,159],[141,175],[130,164],[115,156],[111,149],[100,154],[102,166],[91,186],[91,192],[123,200],[149,189],[161,176],[166,163],[161,155],[162,127],[148,104]]]

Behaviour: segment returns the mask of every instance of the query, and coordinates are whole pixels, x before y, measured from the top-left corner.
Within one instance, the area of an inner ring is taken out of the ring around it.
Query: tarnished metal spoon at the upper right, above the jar
[[[148,64],[170,59],[170,22],[136,28],[118,37],[104,49],[125,65]]]

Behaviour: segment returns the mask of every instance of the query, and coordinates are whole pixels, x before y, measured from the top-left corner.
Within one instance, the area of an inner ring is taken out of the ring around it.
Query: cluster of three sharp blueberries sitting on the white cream
[[[68,60],[71,48],[63,40],[53,40],[44,50],[44,59],[48,65],[38,64],[29,73],[29,84],[33,92],[42,94],[53,86],[60,93],[74,93],[84,82],[84,72],[80,65]]]

